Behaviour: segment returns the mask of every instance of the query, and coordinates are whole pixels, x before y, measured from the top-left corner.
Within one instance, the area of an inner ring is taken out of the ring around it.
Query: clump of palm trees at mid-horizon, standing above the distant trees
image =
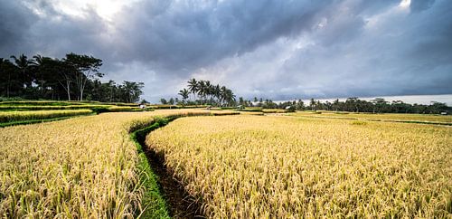
[[[187,87],[179,90],[178,98],[170,100],[161,99],[162,104],[188,104],[188,105],[212,105],[212,106],[235,106],[235,94],[231,89],[212,84],[211,81],[191,79],[187,81]]]

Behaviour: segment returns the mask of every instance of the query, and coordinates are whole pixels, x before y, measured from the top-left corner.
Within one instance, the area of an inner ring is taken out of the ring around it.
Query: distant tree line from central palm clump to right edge
[[[161,99],[162,104],[189,104],[189,105],[212,105],[220,107],[260,107],[262,109],[291,109],[291,110],[330,110],[349,112],[372,112],[372,113],[420,113],[439,114],[441,112],[452,113],[452,108],[441,102],[432,102],[430,105],[410,104],[401,100],[386,101],[382,98],[374,100],[360,100],[348,98],[344,101],[334,100],[321,102],[311,99],[307,103],[303,100],[273,101],[263,100],[255,97],[246,100],[236,96],[232,90],[219,84],[213,85],[211,81],[192,79],[187,81],[187,88],[179,90],[178,95],[182,98]]]

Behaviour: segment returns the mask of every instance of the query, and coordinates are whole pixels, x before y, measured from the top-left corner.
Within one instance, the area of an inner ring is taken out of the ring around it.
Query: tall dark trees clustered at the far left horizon
[[[101,82],[102,60],[68,53],[62,59],[40,54],[0,58],[0,97],[28,100],[97,100],[137,102],[143,82]]]

